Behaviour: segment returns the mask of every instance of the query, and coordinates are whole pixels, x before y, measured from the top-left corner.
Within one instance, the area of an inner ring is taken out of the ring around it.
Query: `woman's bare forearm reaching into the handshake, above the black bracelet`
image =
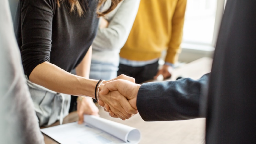
[[[43,62],[31,72],[30,81],[52,91],[77,96],[94,98],[98,80],[91,80],[66,72],[56,65]]]

